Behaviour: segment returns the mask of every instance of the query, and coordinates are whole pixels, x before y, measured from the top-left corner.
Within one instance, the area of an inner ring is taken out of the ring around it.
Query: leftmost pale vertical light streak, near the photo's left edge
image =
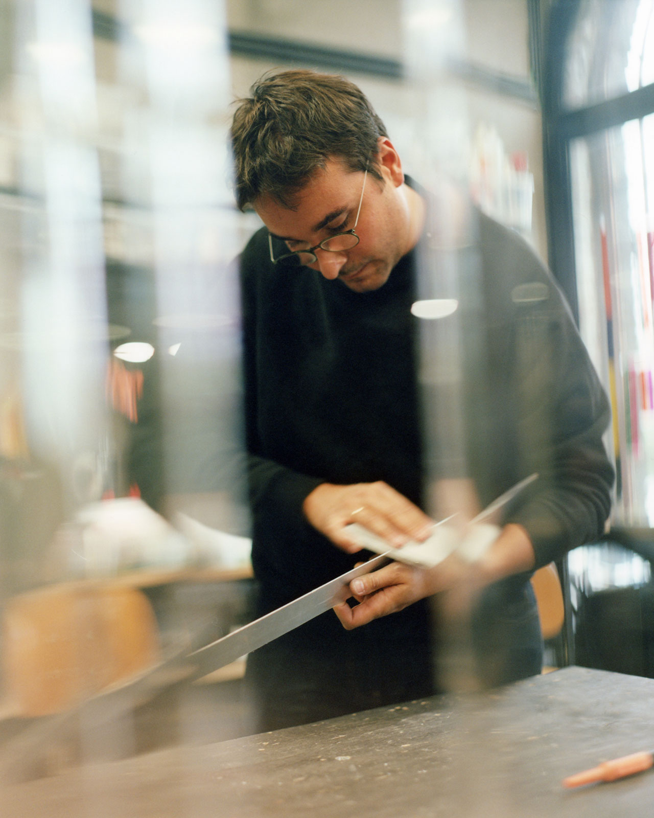
[[[93,145],[96,97],[87,0],[18,4],[25,91],[22,184],[43,201],[23,220],[23,372],[30,441],[59,464],[67,500],[75,462],[105,443],[107,357],[101,182]]]

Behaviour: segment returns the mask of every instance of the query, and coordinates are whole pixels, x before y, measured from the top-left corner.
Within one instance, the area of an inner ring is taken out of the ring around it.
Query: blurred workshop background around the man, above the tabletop
[[[549,263],[611,397],[611,531],[549,661],[654,676],[654,2],[0,0],[0,765],[248,733],[235,98],[346,74],[405,171]]]

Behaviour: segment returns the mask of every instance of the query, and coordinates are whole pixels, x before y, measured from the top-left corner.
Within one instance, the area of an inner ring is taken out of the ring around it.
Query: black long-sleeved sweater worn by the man
[[[366,294],[306,267],[274,267],[265,229],[244,249],[246,432],[261,610],[356,560],[303,518],[302,501],[325,481],[381,479],[423,505],[430,480],[467,474],[485,505],[537,470],[540,479],[504,515],[530,534],[537,566],[602,533],[613,480],[602,446],[607,400],[549,272],[522,239],[484,216],[467,249],[442,254],[428,244],[423,238],[420,256],[406,255],[383,287]],[[419,258],[427,274],[436,272],[440,294],[458,290],[458,398],[439,377],[451,369],[450,319],[410,313],[422,286]],[[454,282],[439,272],[453,258]],[[435,428],[450,402],[463,419],[458,450],[449,432],[439,440]]]

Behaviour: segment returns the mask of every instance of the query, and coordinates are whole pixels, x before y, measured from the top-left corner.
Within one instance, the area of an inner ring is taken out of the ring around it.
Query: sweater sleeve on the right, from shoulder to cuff
[[[504,326],[505,359],[513,361],[518,474],[540,475],[504,522],[526,529],[540,567],[602,536],[614,479],[602,443],[610,409],[549,271],[519,238],[504,246],[503,263],[522,276],[505,291],[511,319]]]

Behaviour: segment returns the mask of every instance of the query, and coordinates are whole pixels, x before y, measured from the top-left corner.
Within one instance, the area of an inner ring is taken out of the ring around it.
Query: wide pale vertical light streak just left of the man
[[[243,512],[231,502],[242,458],[238,291],[229,263],[240,248],[227,152],[226,12],[213,0],[143,0],[123,3],[123,14],[132,29],[125,79],[148,101],[126,183],[152,209],[156,347],[181,344],[157,363],[166,492],[173,507],[174,497],[210,493],[216,515],[203,521],[233,528]]]

